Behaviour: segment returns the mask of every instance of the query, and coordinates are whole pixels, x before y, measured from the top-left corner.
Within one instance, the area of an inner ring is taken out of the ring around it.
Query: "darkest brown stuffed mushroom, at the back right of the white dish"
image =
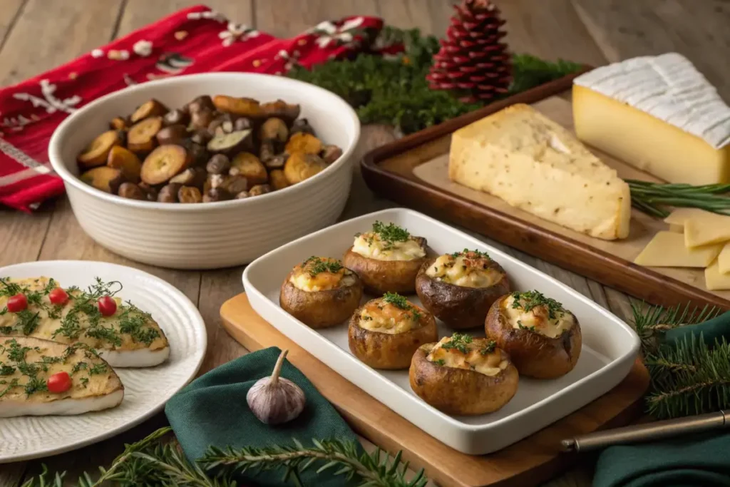
[[[466,329],[484,325],[492,303],[510,292],[510,282],[488,253],[464,249],[423,264],[415,292],[423,307],[448,326]]]

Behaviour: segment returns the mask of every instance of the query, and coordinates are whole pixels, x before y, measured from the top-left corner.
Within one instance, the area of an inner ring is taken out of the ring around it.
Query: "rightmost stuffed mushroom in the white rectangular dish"
[[[580,323],[555,299],[538,291],[502,296],[485,320],[487,337],[510,354],[520,375],[552,379],[580,357]]]

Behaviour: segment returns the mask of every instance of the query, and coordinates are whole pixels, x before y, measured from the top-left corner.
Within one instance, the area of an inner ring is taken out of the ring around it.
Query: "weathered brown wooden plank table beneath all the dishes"
[[[447,0],[0,0],[0,86],[18,83],[152,23],[177,9],[206,3],[231,20],[277,36],[299,33],[342,15],[379,15],[401,28],[442,35],[451,14]],[[677,51],[691,59],[730,100],[730,4],[726,0],[496,0],[515,52],[601,65],[636,55]],[[364,127],[358,154],[393,139],[383,126]],[[358,173],[342,218],[393,206],[366,188]],[[490,242],[493,244],[493,242]],[[528,264],[629,319],[627,296],[556,266],[508,250]],[[0,266],[50,259],[110,261],[144,269],[174,283],[197,303],[208,329],[202,371],[246,350],[220,327],[218,309],[242,291],[242,267],[211,272],[174,271],[136,264],[96,245],[66,198],[34,215],[0,208]],[[125,434],[42,461],[0,465],[0,487],[17,487],[42,462],[53,470],[96,471],[133,442],[164,425],[158,415]],[[1,445],[0,445],[1,448]],[[592,461],[566,472],[551,487],[589,486]]]

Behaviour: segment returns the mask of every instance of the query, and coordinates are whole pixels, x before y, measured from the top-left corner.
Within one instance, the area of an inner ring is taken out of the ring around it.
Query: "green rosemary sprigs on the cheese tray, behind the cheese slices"
[[[626,180],[631,190],[631,204],[657,218],[669,216],[666,207],[699,208],[721,215],[730,215],[730,184],[693,186],[677,183],[650,183]]]

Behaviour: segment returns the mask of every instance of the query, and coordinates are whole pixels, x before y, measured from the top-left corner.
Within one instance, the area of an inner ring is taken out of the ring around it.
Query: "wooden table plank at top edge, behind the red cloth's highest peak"
[[[226,15],[231,22],[250,25],[253,21],[253,0],[127,0],[119,23],[118,37],[126,36],[180,9],[200,4]]]

